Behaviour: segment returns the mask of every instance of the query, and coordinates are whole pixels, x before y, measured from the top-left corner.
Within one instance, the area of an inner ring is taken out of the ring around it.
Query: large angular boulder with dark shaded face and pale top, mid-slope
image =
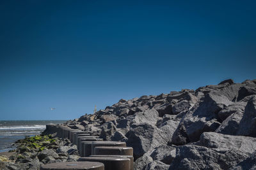
[[[184,145],[198,141],[203,132],[213,132],[219,127],[217,113],[232,104],[227,97],[215,92],[206,94],[204,101],[189,110],[173,134],[172,143]]]

